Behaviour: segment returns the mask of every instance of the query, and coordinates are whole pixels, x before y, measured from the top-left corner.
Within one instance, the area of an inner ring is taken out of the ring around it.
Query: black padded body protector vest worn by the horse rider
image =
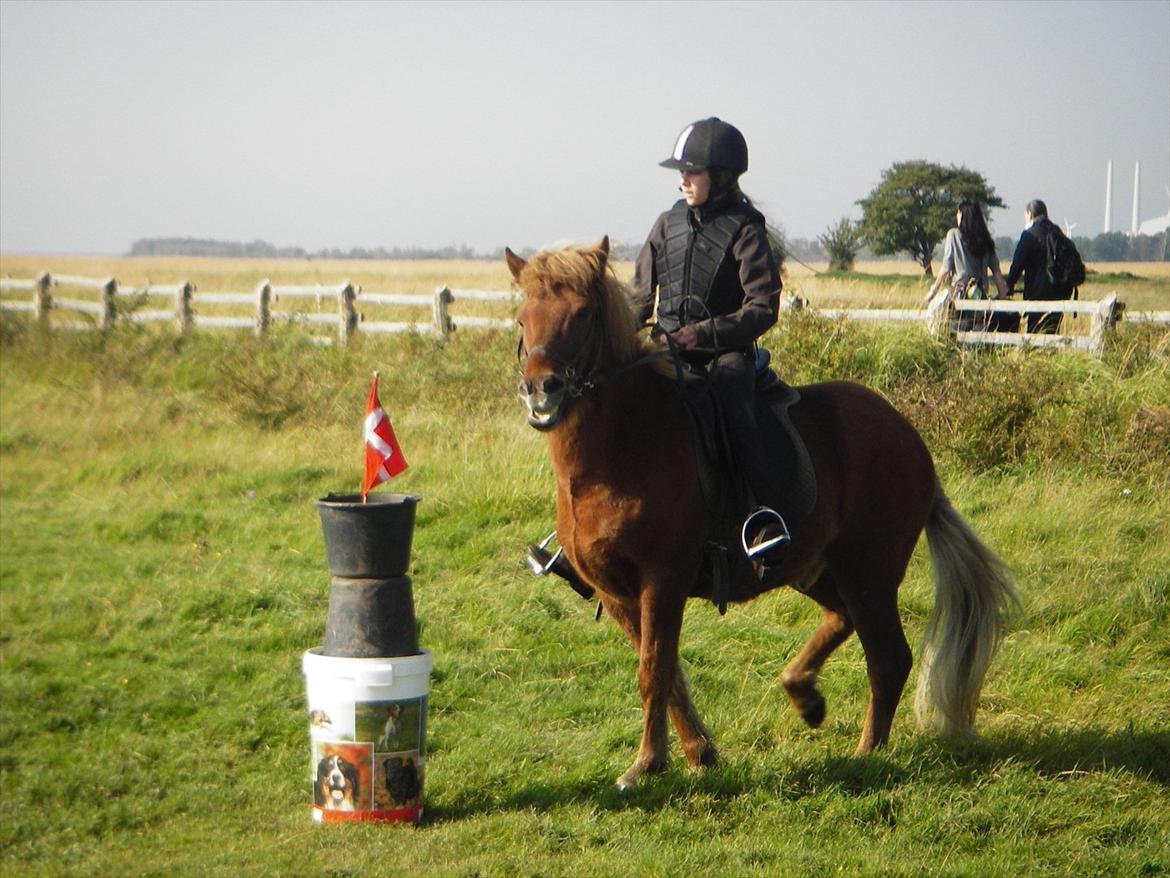
[[[739,203],[696,225],[687,203],[670,208],[666,241],[655,254],[659,284],[658,322],[668,332],[687,323],[730,314],[742,304],[738,279],[734,301],[730,290],[716,290],[715,280],[731,251],[731,242],[749,222],[764,225],[764,215]],[[722,294],[722,295],[720,295]],[[729,300],[729,301],[723,301]]]

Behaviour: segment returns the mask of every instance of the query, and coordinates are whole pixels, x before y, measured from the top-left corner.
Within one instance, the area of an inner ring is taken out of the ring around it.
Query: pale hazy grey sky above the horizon
[[[0,249],[640,241],[720,116],[813,238],[894,162],[1095,235],[1170,201],[1170,1],[0,0]]]

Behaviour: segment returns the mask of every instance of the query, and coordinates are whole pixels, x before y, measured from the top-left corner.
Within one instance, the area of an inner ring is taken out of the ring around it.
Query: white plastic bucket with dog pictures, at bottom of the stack
[[[312,818],[413,822],[422,818],[431,652],[342,658],[309,650]]]

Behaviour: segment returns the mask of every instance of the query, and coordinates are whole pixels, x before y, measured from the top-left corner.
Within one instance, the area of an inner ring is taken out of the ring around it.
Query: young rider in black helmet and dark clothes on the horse
[[[734,125],[700,119],[659,163],[681,174],[682,198],[658,218],[638,254],[631,304],[652,335],[669,336],[683,359],[706,366],[749,491],[777,495],[756,426],[756,342],[777,318],[780,273],[764,215],[739,188],[748,143]],[[757,507],[744,521],[749,557],[775,564],[787,542],[783,519]]]

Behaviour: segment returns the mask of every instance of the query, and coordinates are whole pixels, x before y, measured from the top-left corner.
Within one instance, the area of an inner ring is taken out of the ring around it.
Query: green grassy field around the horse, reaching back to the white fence
[[[322,349],[0,325],[0,869],[37,876],[1170,873],[1170,344],[972,354],[796,316],[793,382],[854,377],[922,430],[1017,571],[1026,620],[982,738],[849,756],[855,639],[805,728],[778,674],[818,619],[780,590],[694,604],[682,656],[723,762],[627,794],[634,657],[523,546],[552,522],[514,339]],[[355,491],[369,376],[424,496],[411,575],[435,657],[426,821],[309,818],[301,653],[329,574],[312,501]],[[903,585],[915,642],[925,547]]]

